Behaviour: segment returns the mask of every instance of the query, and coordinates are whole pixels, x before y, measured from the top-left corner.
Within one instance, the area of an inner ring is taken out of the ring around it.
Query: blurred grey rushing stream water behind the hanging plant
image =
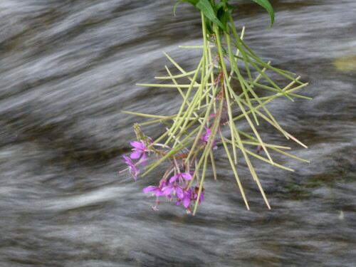
[[[0,266],[355,266],[356,2],[272,1],[271,31],[263,9],[234,2],[248,44],[310,82],[314,100],[270,110],[311,163],[256,166],[271,211],[241,167],[246,211],[218,150],[194,217],[168,201],[152,211],[142,188],[155,174],[118,174],[145,121],[119,110],[179,106],[174,90],[135,83],[164,74],[161,51],[187,69],[199,60],[177,46],[201,41],[200,16],[184,4],[172,16],[172,2],[0,1]]]

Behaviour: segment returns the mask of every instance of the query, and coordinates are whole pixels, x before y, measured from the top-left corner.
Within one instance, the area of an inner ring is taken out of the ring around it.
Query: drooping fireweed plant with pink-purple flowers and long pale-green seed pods
[[[193,211],[194,215],[197,206],[204,201],[204,180],[208,164],[211,165],[216,179],[214,150],[218,147],[219,150],[225,150],[242,198],[247,209],[250,209],[236,169],[237,151],[240,151],[239,157],[246,161],[268,209],[271,209],[250,158],[256,157],[292,172],[293,169],[274,162],[270,151],[304,162],[308,160],[284,151],[290,150],[290,147],[264,142],[258,134],[257,126],[260,120],[266,121],[287,139],[306,147],[282,129],[266,105],[279,97],[288,98],[292,102],[293,98],[310,99],[294,93],[308,83],[300,82],[300,76],[294,78],[294,73],[273,67],[270,62],[266,63],[246,45],[243,41],[244,28],[238,33],[234,25],[231,16],[233,6],[229,5],[229,0],[182,1],[189,2],[201,13],[203,45],[183,47],[201,48],[201,60],[197,68],[186,71],[164,53],[181,74],[172,75],[171,70],[165,66],[167,76],[156,78],[169,80],[171,83],[137,84],[156,88],[177,88],[182,95],[182,105],[175,115],[170,116],[124,111],[131,115],[152,118],[148,122],[134,125],[137,141],[130,142],[133,151],[129,157],[123,156],[124,162],[135,180],[139,174],[145,176],[159,164],[165,164],[167,170],[157,185],[145,187],[143,192],[156,197],[153,206],[155,210],[158,209],[159,197],[167,197],[176,201],[177,205],[182,204],[188,213]],[[178,1],[177,4],[182,1]],[[271,27],[274,20],[271,4],[267,0],[252,1],[268,11]],[[177,4],[174,6],[174,13]],[[284,80],[289,81],[278,85],[272,80],[272,73],[281,75]],[[236,80],[239,86],[233,85],[233,80]],[[268,91],[270,94],[258,96],[258,92],[261,95],[261,91]],[[241,130],[240,125],[244,120],[251,128],[249,134]],[[163,123],[166,127],[164,133],[153,140],[147,137],[141,128],[155,123]],[[227,134],[223,133],[224,127]]]

